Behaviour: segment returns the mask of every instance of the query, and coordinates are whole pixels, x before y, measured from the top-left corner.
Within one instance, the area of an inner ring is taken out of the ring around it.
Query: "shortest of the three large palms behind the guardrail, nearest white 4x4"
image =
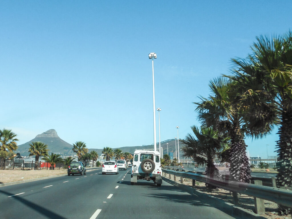
[[[199,129],[192,126],[191,128],[197,139],[188,133],[185,140],[180,140],[184,145],[181,147],[183,157],[192,158],[198,165],[206,165],[206,175],[212,178],[220,178],[213,160],[224,150],[225,145],[227,145],[227,138],[222,133],[214,131],[212,127],[201,127]],[[213,188],[208,184],[206,184],[206,187],[209,190]]]

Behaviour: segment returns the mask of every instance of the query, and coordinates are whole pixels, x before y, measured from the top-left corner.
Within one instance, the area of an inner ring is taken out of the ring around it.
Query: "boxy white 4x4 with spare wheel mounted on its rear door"
[[[158,151],[135,150],[131,172],[131,184],[137,180],[153,180],[157,186],[161,186],[161,164]]]

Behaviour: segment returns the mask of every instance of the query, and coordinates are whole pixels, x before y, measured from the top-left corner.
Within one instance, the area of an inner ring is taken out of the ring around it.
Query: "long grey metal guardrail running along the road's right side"
[[[185,173],[166,169],[162,169],[162,171],[164,173],[190,178],[193,180],[198,180],[203,183],[208,183],[210,185],[220,187],[231,192],[238,192],[240,194],[257,197],[260,199],[273,201],[277,204],[292,207],[292,191],[290,190],[284,190],[261,185],[253,185],[248,183],[240,183],[234,181],[220,181],[210,178],[206,175],[201,175],[197,173]]]

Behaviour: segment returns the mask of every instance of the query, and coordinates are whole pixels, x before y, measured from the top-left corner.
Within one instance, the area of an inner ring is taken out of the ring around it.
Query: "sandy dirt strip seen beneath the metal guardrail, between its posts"
[[[166,178],[169,178],[169,175],[166,174]],[[173,175],[171,176],[171,180],[173,180]],[[176,177],[176,182],[180,183],[180,177]],[[183,178],[183,182],[185,185],[189,185],[192,186],[192,179],[188,179],[188,178]],[[220,189],[217,188],[215,190],[212,190],[212,192],[208,192],[206,190],[206,186],[205,183],[201,183],[196,181],[196,190],[199,190],[201,192],[204,192],[206,194],[210,194],[216,198],[219,199],[223,199],[225,202],[229,202],[229,203],[233,203],[233,198],[232,198],[232,194],[224,189]],[[240,194],[239,197],[239,207],[244,208],[248,211],[252,211],[255,212],[255,204],[254,204],[254,198],[244,195],[244,194]],[[272,201],[267,201],[265,200],[265,210],[266,210],[266,214],[262,214],[261,216],[268,218],[268,219],[291,219],[291,215],[278,215],[277,210],[278,209],[278,204],[272,202]]]

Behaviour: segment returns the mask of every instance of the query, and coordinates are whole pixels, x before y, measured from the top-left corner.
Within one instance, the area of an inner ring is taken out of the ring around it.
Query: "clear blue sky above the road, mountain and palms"
[[[192,102],[260,35],[285,34],[291,1],[0,1],[0,128],[18,144],[55,129],[88,148],[153,144],[199,125]],[[157,118],[157,142],[158,114]],[[275,155],[277,128],[246,139]]]

